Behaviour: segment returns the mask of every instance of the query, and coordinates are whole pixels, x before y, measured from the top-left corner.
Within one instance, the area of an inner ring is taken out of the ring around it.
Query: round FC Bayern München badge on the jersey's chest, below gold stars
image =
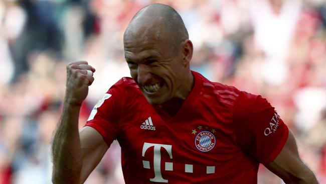
[[[210,151],[215,146],[215,136],[209,131],[202,131],[195,138],[195,146],[200,151]]]

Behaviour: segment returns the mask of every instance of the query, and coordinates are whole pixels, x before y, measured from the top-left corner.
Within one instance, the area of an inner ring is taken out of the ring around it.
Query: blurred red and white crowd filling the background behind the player
[[[95,81],[80,114],[130,76],[123,32],[152,3],[174,7],[194,43],[192,69],[260,94],[296,137],[302,160],[326,183],[326,1],[0,1],[0,184],[51,183],[50,142],[65,92],[66,64],[86,60]],[[282,183],[263,166],[258,183]],[[120,147],[85,183],[124,183]]]

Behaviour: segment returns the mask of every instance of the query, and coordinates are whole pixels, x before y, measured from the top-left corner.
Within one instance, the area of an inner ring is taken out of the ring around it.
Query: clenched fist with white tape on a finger
[[[95,68],[87,61],[67,64],[67,83],[65,102],[72,106],[80,106],[88,94],[88,86],[94,81]]]

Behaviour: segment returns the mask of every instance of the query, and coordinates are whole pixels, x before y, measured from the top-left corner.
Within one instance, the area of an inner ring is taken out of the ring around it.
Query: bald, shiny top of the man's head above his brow
[[[181,42],[189,39],[181,16],[175,9],[163,4],[152,4],[137,12],[124,32],[124,40],[139,33],[146,35],[144,38],[166,40],[173,54],[180,50]]]

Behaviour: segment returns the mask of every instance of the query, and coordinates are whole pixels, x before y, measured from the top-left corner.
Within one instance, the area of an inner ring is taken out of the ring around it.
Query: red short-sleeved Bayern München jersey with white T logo
[[[259,163],[283,148],[288,128],[266,99],[193,75],[173,117],[128,77],[94,107],[85,126],[118,140],[126,183],[257,183]]]

